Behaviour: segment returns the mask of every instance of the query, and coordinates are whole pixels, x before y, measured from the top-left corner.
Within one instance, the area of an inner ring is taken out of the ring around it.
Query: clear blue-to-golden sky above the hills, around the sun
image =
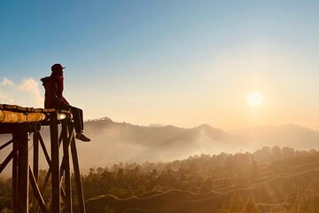
[[[0,102],[65,70],[85,118],[319,130],[318,1],[1,1]],[[253,106],[246,99],[262,94]]]

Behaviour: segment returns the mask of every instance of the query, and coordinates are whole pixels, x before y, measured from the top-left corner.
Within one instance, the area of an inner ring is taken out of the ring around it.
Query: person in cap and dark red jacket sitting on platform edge
[[[44,108],[56,108],[71,110],[74,117],[75,138],[84,142],[90,139],[83,134],[83,112],[82,109],[71,106],[63,97],[64,76],[63,69],[60,64],[54,64],[51,67],[51,76],[43,77],[41,81],[45,89]]]

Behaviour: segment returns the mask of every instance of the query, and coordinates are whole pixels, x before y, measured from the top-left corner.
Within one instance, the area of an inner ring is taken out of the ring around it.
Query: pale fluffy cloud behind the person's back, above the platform
[[[19,106],[43,107],[43,94],[39,82],[32,77],[14,83],[7,77],[0,78],[0,103]]]

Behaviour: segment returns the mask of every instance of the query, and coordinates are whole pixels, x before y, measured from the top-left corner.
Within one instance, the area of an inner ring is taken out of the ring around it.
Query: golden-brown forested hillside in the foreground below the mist
[[[40,182],[44,174],[42,170]],[[315,149],[273,146],[253,154],[201,154],[173,162],[91,168],[82,175],[82,184],[88,212],[315,213],[318,177]],[[4,212],[10,212],[10,196],[11,179],[2,179]],[[76,212],[75,194],[73,198]],[[50,189],[44,199],[50,199]]]

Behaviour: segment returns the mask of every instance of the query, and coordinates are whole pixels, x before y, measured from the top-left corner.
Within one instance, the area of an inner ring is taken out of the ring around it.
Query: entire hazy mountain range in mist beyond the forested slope
[[[44,128],[42,134],[49,143],[49,130]],[[85,134],[92,142],[77,142],[83,169],[117,162],[166,162],[196,154],[251,152],[262,146],[319,147],[318,131],[292,124],[225,131],[206,124],[190,129],[172,125],[138,126],[105,117],[85,122]],[[0,135],[0,144],[9,138]],[[2,152],[2,156],[8,153]],[[0,160],[4,160],[2,156]],[[40,166],[46,167],[46,162],[43,160]]]

